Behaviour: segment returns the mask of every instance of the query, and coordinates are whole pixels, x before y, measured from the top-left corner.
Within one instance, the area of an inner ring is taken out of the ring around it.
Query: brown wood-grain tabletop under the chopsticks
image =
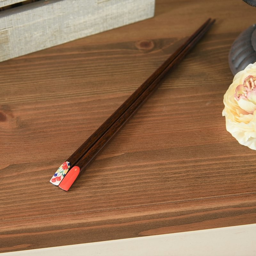
[[[256,222],[256,153],[226,131],[241,1],[158,0],[153,19],[0,63],[0,252]],[[217,22],[69,192],[80,144],[207,18]]]

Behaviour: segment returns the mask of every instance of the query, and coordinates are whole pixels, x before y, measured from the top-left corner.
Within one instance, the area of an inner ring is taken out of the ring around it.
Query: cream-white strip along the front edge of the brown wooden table
[[[241,256],[256,254],[256,224],[64,245],[1,256]]]

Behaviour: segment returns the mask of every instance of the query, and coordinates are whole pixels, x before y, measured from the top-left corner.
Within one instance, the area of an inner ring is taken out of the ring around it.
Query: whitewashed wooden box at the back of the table
[[[154,8],[155,0],[40,0],[0,11],[0,61],[151,18]]]

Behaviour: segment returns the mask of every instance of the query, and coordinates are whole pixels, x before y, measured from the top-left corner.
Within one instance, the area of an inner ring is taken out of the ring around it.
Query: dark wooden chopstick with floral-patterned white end
[[[108,131],[108,129],[120,118],[120,116],[133,104],[133,102],[147,89],[147,87],[158,78],[161,71],[164,70],[172,61],[187,47],[187,45],[195,39],[203,29],[207,27],[211,19],[207,19],[202,26],[199,27],[182,44],[56,171],[50,182],[59,185],[69,168],[72,168],[86,154],[90,148]]]

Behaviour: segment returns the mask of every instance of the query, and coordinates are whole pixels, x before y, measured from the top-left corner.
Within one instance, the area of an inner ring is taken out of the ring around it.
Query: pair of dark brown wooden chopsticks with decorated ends
[[[159,82],[210,29],[215,20],[208,19],[180,46],[68,159],[51,178],[50,182],[68,191],[97,153],[125,124],[132,114],[157,89]],[[71,168],[71,169],[70,169]],[[70,170],[69,170],[70,169]]]

